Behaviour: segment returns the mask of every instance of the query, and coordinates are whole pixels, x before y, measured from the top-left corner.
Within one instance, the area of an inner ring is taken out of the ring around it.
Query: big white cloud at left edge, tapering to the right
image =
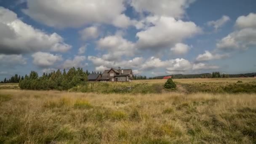
[[[25,24],[16,13],[0,7],[0,53],[68,51],[71,48],[56,33],[51,35]]]

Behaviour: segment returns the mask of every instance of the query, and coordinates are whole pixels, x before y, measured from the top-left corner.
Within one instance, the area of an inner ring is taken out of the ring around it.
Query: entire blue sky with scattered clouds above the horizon
[[[0,80],[131,68],[256,72],[256,0],[0,0]]]

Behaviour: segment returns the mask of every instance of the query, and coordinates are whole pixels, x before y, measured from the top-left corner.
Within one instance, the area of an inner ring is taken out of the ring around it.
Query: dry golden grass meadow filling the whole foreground
[[[0,100],[0,143],[256,143],[256,94],[0,90]]]

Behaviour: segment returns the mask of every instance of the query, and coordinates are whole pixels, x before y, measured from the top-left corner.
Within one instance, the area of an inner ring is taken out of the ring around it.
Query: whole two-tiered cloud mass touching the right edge
[[[245,50],[250,46],[255,46],[256,20],[254,18],[256,18],[255,13],[238,17],[235,24],[238,29],[222,38],[216,44],[217,48],[221,50]]]

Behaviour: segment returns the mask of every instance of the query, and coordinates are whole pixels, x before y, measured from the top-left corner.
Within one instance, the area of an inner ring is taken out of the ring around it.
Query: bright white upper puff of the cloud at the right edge
[[[236,27],[242,28],[256,28],[256,13],[250,13],[248,16],[239,16],[236,20]]]

